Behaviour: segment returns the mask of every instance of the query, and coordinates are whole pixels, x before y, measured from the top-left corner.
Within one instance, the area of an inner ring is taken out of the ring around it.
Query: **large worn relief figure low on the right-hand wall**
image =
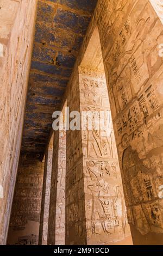
[[[127,188],[129,222],[142,235],[163,233],[162,206],[155,186],[155,173],[146,167],[136,150],[129,146],[123,153],[122,168]]]

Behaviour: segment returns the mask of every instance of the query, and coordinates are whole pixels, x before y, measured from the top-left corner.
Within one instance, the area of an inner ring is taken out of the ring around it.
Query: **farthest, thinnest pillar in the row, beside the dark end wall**
[[[43,188],[40,215],[39,245],[47,245],[49,202],[51,191],[52,175],[52,157],[53,157],[53,136],[49,143],[45,155],[45,169],[43,173]]]

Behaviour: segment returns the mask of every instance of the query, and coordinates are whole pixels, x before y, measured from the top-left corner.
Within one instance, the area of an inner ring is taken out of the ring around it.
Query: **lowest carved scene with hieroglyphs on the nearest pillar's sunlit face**
[[[105,168],[104,172],[97,172],[94,161],[87,162],[87,169],[91,178],[91,182],[87,182],[87,188],[92,194],[92,199],[87,200],[87,210],[91,211],[91,232],[89,230],[89,235],[108,233],[114,240],[117,238],[117,234],[123,237],[122,230],[125,234],[127,225],[122,188],[111,184],[110,180],[107,179],[116,180],[118,178],[120,175],[119,166],[118,162],[97,162],[98,164],[100,164],[101,170],[103,167]]]

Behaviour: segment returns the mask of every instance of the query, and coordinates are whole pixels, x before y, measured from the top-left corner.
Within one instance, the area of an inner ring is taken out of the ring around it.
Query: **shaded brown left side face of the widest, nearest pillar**
[[[70,112],[80,112],[78,72],[67,93],[67,106]],[[66,245],[86,245],[82,132],[66,133]]]

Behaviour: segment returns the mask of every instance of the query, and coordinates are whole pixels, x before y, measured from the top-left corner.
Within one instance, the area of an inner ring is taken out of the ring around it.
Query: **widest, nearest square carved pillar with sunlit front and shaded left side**
[[[79,68],[71,110],[87,112],[92,128],[67,133],[66,244],[131,243],[105,76]],[[78,103],[77,103],[78,102]],[[100,113],[109,133],[97,129]],[[128,239],[129,237],[129,239]]]

